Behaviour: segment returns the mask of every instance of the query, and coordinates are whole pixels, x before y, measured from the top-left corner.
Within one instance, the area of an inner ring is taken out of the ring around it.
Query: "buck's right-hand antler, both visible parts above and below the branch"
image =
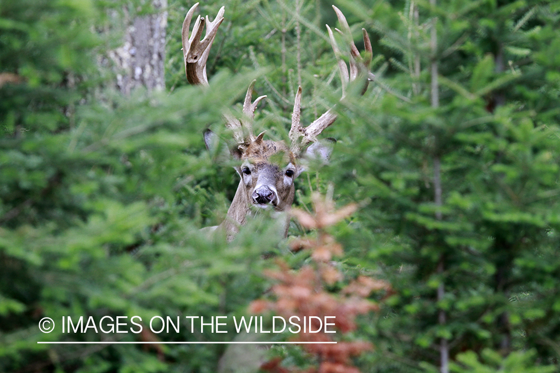
[[[346,62],[344,62],[342,58],[342,54],[340,53],[340,49],[338,48],[338,44],[334,39],[333,31],[330,29],[329,25],[326,25],[326,28],[329,32],[330,44],[333,47],[334,55],[337,58],[338,69],[340,73],[340,81],[342,82],[342,98],[346,96],[346,86],[348,82],[354,81],[358,74],[361,71],[367,71],[369,64],[371,63],[372,59],[372,48],[371,48],[371,41],[370,36],[367,34],[365,29],[362,29],[363,34],[363,43],[365,45],[366,50],[366,58],[362,58],[360,56],[360,51],[356,48],[354,41],[352,40],[352,34],[350,32],[350,26],[348,26],[348,22],[346,21],[346,17],[344,17],[343,13],[333,5],[335,13],[337,13],[338,21],[340,22],[340,27],[342,31],[337,30],[340,34],[344,36],[347,40],[347,43],[350,46],[350,56],[349,56],[349,66],[350,71],[348,72],[348,67]],[[371,74],[371,73],[369,73]],[[368,75],[369,76],[369,75]],[[366,92],[367,89],[367,82],[364,85],[363,93]],[[340,98],[340,100],[342,100]],[[288,134],[290,141],[292,143],[291,150],[292,153],[298,154],[301,150],[305,147],[305,145],[316,141],[316,137],[328,126],[332,125],[335,120],[337,120],[337,114],[334,113],[333,108],[330,108],[325,114],[321,115],[318,119],[314,120],[309,126],[306,128],[302,128],[300,123],[300,115],[301,115],[301,87],[297,89],[296,99],[293,104],[293,113],[292,113],[292,127],[290,129],[290,134]],[[301,140],[299,140],[300,136],[303,136]]]

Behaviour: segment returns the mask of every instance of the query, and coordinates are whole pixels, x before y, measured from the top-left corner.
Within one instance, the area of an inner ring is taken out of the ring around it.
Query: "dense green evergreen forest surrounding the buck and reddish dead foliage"
[[[192,5],[0,2],[0,371],[216,372],[224,344],[37,342],[235,333],[45,334],[38,323],[248,315],[253,301],[273,299],[265,269],[312,262],[309,250],[291,251],[297,237],[316,237],[296,221],[286,240],[269,220],[230,244],[199,232],[223,220],[238,182],[202,132],[222,133],[224,108],[239,108],[253,79],[255,97],[268,95],[255,126],[272,139],[287,139],[298,85],[307,123],[338,103],[331,4],[199,4],[211,18],[226,6],[211,89],[184,75],[180,30]],[[358,49],[361,28],[370,33],[375,79],[338,103],[322,135],[338,140],[332,160],[298,178],[295,204],[313,210],[318,191],[338,208],[358,206],[325,228],[344,248],[333,259],[343,276],[325,292],[360,276],[390,284],[369,295],[376,311],[337,334],[372,343],[348,365],[559,371],[560,3],[335,5]],[[267,356],[280,357],[278,372],[321,364],[295,346]]]

